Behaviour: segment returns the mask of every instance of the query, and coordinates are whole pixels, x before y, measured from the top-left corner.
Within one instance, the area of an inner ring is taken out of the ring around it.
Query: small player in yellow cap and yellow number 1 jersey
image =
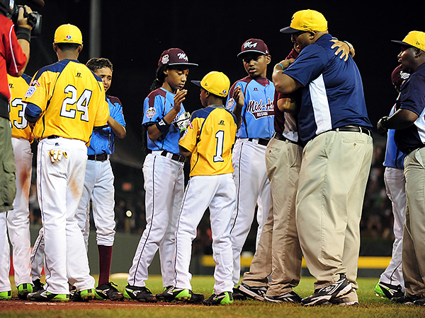
[[[179,142],[181,155],[191,157],[191,173],[176,230],[174,288],[157,295],[164,300],[198,302],[202,294],[191,291],[192,241],[196,228],[210,208],[212,257],[215,261],[214,293],[204,305],[228,305],[233,302],[231,218],[236,204],[233,181],[232,146],[237,130],[236,117],[225,109],[230,81],[224,73],[212,71],[200,86],[203,109],[191,116],[191,124]],[[185,125],[186,126],[186,125]]]

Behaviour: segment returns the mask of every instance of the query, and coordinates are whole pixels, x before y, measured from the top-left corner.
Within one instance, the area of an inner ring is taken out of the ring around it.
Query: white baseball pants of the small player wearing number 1
[[[232,292],[231,218],[236,204],[233,175],[198,175],[191,177],[183,199],[176,231],[176,288],[192,290],[189,265],[196,228],[210,208],[212,258],[215,261],[214,293]]]

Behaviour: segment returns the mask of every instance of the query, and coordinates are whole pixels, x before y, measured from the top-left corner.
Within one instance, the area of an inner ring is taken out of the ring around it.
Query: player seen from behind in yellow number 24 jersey
[[[83,300],[95,296],[75,211],[84,188],[86,143],[94,126],[107,124],[109,110],[101,79],[78,61],[82,47],[79,28],[57,28],[53,49],[58,61],[35,73],[23,100],[39,140],[37,190],[46,271],[45,290],[28,294],[28,300],[66,302],[68,282]]]

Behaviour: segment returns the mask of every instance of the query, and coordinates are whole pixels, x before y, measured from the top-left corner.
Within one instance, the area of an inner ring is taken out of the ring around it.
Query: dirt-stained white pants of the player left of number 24
[[[7,212],[8,237],[12,244],[15,285],[32,283],[30,275],[30,196],[33,153],[27,139],[12,138],[16,165],[16,196],[13,210]],[[7,242],[7,241],[6,241]],[[7,244],[7,246],[9,246]]]

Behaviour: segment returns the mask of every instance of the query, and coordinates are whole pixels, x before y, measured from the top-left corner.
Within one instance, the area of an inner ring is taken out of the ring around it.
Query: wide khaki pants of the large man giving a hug
[[[358,288],[359,225],[372,155],[372,137],[351,131],[327,131],[304,148],[296,220],[315,289],[335,283],[340,273]]]

